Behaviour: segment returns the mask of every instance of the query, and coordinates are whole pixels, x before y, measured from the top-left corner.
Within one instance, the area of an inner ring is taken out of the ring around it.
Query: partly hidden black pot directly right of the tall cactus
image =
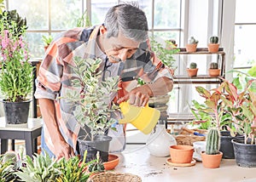
[[[231,140],[232,139],[243,139],[243,136],[232,137],[230,135],[229,131],[221,131],[220,134],[221,134],[221,137],[220,137],[219,151],[222,151],[222,153],[223,153],[222,158],[234,159],[235,158],[234,147],[233,147]]]

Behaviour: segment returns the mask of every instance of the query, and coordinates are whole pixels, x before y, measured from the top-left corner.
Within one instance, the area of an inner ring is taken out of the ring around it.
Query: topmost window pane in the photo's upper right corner
[[[236,0],[236,23],[256,23],[255,0]]]

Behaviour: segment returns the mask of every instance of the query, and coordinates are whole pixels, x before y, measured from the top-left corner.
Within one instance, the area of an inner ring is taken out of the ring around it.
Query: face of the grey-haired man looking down
[[[122,33],[119,33],[118,37],[108,38],[106,34],[103,36],[102,44],[105,54],[107,54],[108,60],[113,63],[125,61],[128,58],[131,58],[131,56],[137,51],[140,44],[126,38]]]

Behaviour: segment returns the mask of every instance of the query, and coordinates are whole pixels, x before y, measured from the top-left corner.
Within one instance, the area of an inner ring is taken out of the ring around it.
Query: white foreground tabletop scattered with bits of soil
[[[119,165],[114,169],[120,173],[137,174],[143,182],[254,182],[256,168],[236,166],[234,159],[223,159],[220,168],[204,168],[201,162],[193,167],[173,167],[166,163],[168,157],[151,156],[145,145],[131,149],[129,146],[122,153]]]

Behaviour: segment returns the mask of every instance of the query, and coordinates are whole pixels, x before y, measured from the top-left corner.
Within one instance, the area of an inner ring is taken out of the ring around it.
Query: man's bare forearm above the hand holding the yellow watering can
[[[173,81],[168,77],[160,77],[152,84],[147,84],[151,89],[150,97],[164,95],[172,91]]]

